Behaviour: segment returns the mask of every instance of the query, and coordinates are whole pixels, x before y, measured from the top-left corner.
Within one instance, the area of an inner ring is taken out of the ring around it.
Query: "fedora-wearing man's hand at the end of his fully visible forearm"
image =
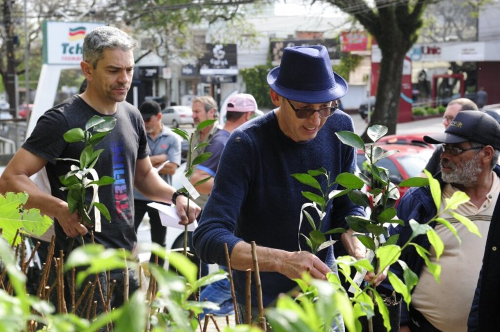
[[[284,260],[280,261],[277,272],[289,279],[302,278],[302,273],[308,272],[313,278],[326,280],[330,268],[319,258],[307,251],[287,253]]]

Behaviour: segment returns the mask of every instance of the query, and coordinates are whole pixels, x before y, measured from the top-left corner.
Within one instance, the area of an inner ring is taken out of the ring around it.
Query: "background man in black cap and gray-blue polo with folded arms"
[[[171,185],[172,174],[180,165],[180,140],[169,128],[161,123],[161,107],[156,101],[144,101],[140,104],[139,111],[146,128],[151,164],[158,171],[163,181]],[[158,210],[148,207],[147,204],[151,203],[151,200],[136,189],[134,189],[133,197],[135,231],[137,232],[140,222],[147,212],[149,225],[151,226],[151,241],[165,247],[166,227],[161,225]],[[153,255],[151,255],[149,261],[154,262]],[[158,258],[158,265],[163,266],[163,263],[163,259]]]

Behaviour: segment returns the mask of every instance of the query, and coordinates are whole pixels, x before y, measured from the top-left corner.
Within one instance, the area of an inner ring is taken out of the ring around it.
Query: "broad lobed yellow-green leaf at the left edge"
[[[28,195],[26,193],[11,193],[0,195],[0,228],[2,237],[12,244],[15,233],[19,229],[22,233],[41,236],[52,225],[52,220],[47,216],[42,216],[40,210],[29,209],[20,212],[19,208],[26,203]],[[18,236],[15,244],[20,243]]]

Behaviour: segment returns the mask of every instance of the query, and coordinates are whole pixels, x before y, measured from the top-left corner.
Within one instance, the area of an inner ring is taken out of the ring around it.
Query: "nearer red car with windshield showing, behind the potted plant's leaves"
[[[423,141],[423,140],[422,140]],[[389,170],[390,181],[395,185],[407,178],[418,176],[427,161],[429,160],[432,152],[430,147],[421,145],[410,144],[383,144],[377,142],[377,146],[381,147],[384,151],[398,150],[398,153],[381,159],[376,163],[378,167],[384,167]],[[368,149],[368,147],[367,147]],[[362,150],[357,150],[357,166],[363,171],[363,162],[366,157]],[[406,192],[407,188],[399,188],[399,197]]]

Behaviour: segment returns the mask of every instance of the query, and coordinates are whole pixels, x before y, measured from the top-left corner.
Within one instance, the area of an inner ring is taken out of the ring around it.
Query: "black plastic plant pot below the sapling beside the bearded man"
[[[389,311],[389,319],[390,319],[390,331],[397,332],[399,331],[399,321],[401,317],[401,295],[398,293],[392,294],[392,291],[384,288],[377,287],[377,292],[380,294],[382,299],[384,299],[385,305],[387,306],[387,310]],[[361,322],[362,331],[368,332],[368,321],[366,320],[366,316],[359,318]],[[375,303],[375,316],[372,319],[373,321],[373,332],[386,332],[387,330],[383,326],[383,318],[378,312],[378,306]]]

